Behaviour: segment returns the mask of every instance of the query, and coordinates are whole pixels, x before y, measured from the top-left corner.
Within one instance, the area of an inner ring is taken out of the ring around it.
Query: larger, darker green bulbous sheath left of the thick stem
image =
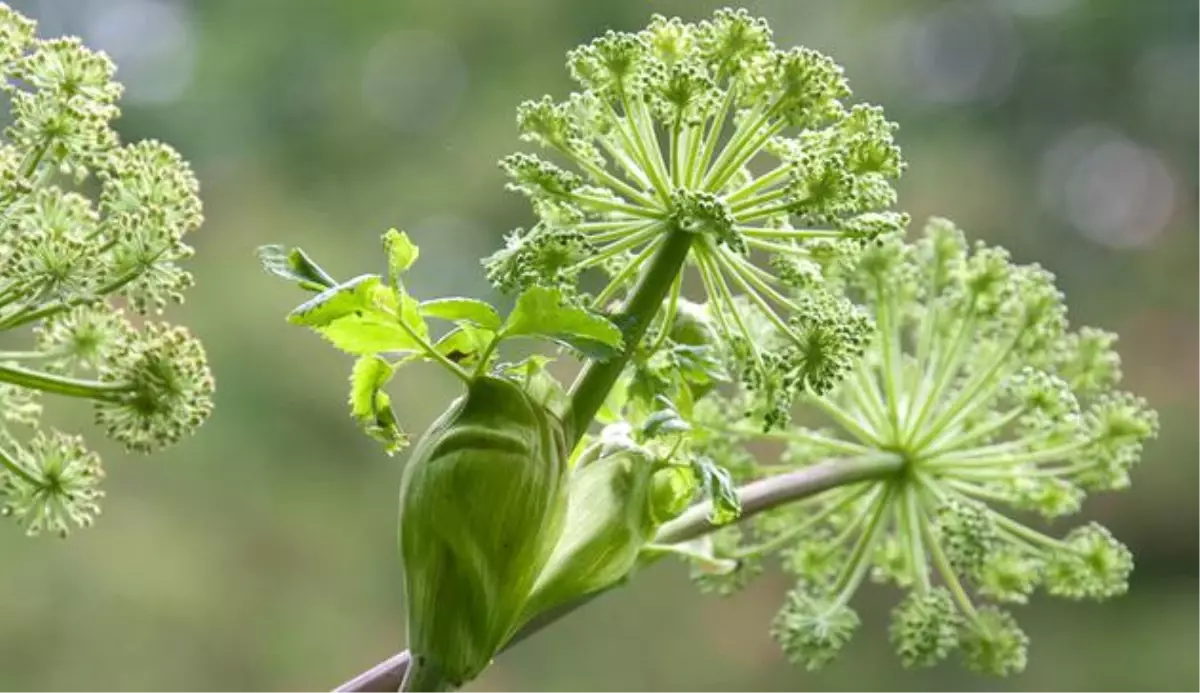
[[[401,487],[408,643],[455,685],[508,641],[566,514],[568,435],[516,384],[474,379]]]

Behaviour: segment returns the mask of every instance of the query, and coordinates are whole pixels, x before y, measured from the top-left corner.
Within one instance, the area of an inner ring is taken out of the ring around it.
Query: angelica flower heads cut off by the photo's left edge
[[[113,129],[114,71],[0,4],[0,512],[31,535],[90,525],[103,496],[100,457],[40,424],[41,394],[91,400],[106,435],[137,452],[179,441],[212,406],[200,343],[126,318],[182,300],[184,235],[202,215],[179,153]]]

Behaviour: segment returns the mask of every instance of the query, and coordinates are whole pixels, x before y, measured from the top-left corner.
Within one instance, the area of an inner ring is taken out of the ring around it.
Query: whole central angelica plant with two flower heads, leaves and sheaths
[[[1129,552],[1097,525],[1055,538],[1007,512],[1068,514],[1128,483],[1157,424],[1114,391],[1114,337],[1068,331],[1048,272],[949,222],[907,241],[895,126],[850,102],[830,59],[721,10],[608,32],[568,67],[578,91],[517,112],[552,158],[500,162],[536,217],[484,260],[506,317],[416,297],[396,230],[388,271],[347,281],[299,248],[259,252],[316,294],[288,319],[356,357],[350,414],[386,452],[408,444],[388,393],[401,367],[464,386],[404,469],[412,653],[340,691],[456,689],[668,556],[719,593],[781,558],[797,585],[769,627],[809,668],[858,628],[868,579],[907,592],[890,625],[905,664],[958,649],[1001,675],[1026,637],[985,602],[1126,589]],[[548,352],[505,361],[514,338]],[[571,385],[556,357],[580,362]],[[792,426],[800,406],[829,428]],[[781,459],[749,452],[763,438]]]

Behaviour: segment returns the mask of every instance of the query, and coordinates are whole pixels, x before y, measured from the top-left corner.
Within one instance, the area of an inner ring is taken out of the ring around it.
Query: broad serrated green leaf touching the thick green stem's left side
[[[600,360],[616,355],[623,344],[620,330],[610,320],[545,287],[521,294],[500,335],[546,337]]]

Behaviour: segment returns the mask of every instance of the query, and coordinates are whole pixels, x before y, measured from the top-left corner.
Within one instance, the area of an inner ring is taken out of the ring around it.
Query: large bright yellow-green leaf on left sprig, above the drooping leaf
[[[428,338],[418,302],[383,285],[378,275],[322,291],[293,311],[288,321],[312,327],[334,346],[360,356],[416,351]]]

